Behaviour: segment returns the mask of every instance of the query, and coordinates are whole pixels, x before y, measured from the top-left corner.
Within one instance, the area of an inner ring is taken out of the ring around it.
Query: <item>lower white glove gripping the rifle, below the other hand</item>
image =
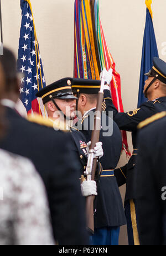
[[[83,196],[97,195],[97,185],[95,180],[83,181],[81,184]]]

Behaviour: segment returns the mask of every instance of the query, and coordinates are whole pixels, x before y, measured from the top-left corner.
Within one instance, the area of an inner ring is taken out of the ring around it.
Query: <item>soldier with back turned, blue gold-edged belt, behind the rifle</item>
[[[91,139],[94,124],[94,113],[97,106],[98,92],[101,81],[74,79],[72,90],[79,98],[77,110],[81,112],[82,119],[77,126],[86,140]],[[115,122],[102,115],[100,141],[103,145],[104,156],[100,161],[103,167],[100,181],[97,184],[97,197],[95,200],[95,234],[91,237],[92,245],[117,245],[120,227],[126,224],[120,190],[114,176],[114,169],[120,159],[122,149],[121,132]],[[106,127],[112,132],[108,134]],[[104,133],[107,134],[104,134]]]

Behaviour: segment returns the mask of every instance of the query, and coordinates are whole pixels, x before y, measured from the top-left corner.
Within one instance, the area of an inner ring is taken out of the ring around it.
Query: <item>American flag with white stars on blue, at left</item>
[[[46,86],[39,43],[35,31],[32,6],[29,0],[20,0],[22,24],[18,49],[17,70],[22,72],[20,100],[28,114],[45,115],[44,106],[35,94]]]

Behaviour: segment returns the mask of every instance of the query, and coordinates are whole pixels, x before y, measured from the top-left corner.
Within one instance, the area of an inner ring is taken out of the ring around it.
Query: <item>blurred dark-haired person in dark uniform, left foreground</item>
[[[57,243],[88,244],[84,203],[77,183],[80,178],[77,174],[78,163],[69,149],[70,134],[53,130],[52,123],[51,127],[45,127],[50,126],[49,121],[42,120],[42,126],[18,115],[15,102],[19,98],[19,80],[13,53],[4,48],[0,63],[6,79],[1,103],[8,123],[0,147],[27,157],[35,165],[45,184]],[[39,215],[37,213],[37,217]]]

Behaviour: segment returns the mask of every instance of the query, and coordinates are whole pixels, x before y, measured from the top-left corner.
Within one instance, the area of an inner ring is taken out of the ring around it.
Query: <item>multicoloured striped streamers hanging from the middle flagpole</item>
[[[110,84],[113,104],[119,112],[123,111],[121,97],[121,78],[116,72],[115,62],[106,44],[103,33],[98,0],[75,0],[75,49],[74,77],[100,80],[105,67],[113,69]],[[123,149],[128,152],[126,131],[122,131]]]

